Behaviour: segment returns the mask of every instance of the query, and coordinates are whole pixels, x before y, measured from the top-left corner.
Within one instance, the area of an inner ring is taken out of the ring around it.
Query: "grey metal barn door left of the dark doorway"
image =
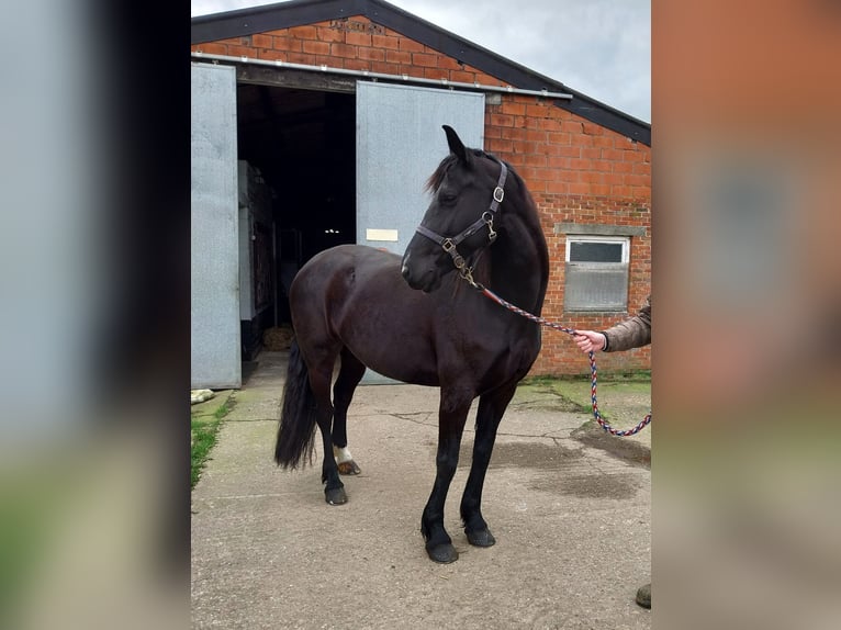
[[[235,69],[193,64],[190,83],[190,387],[239,387]]]

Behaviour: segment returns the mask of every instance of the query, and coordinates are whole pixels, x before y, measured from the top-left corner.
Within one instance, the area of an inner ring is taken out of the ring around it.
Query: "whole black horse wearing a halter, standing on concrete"
[[[334,447],[347,447],[347,409],[366,367],[440,387],[437,473],[420,531],[431,560],[452,562],[458,552],[444,528],[444,505],[471,403],[479,396],[460,511],[468,541],[490,547],[495,540],[481,511],[487,464],[500,420],[540,350],[537,324],[471,284],[484,283],[539,315],[549,255],[519,176],[494,156],[466,148],[452,128],[444,130],[450,155],[427,182],[433,201],[402,265],[396,255],[343,245],[316,255],[295,277],[290,307],[296,340],[274,459],[292,469],[311,461],[317,424],[325,497],[343,504],[347,496]]]

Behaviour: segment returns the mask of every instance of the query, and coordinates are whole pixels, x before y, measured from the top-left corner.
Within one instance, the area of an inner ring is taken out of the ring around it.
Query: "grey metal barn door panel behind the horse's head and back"
[[[357,82],[357,243],[403,255],[449,153],[441,125],[484,147],[484,94]],[[394,382],[368,370],[363,383]]]

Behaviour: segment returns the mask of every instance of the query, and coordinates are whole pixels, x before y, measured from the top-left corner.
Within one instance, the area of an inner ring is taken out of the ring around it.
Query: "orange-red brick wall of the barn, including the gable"
[[[279,31],[197,44],[208,54],[282,59],[293,64],[408,75],[427,79],[503,85],[367,18],[319,22]],[[644,304],[651,278],[651,149],[586,121],[548,99],[502,94],[485,106],[485,149],[505,159],[526,181],[540,211],[549,244],[551,277],[542,315],[564,326],[604,329],[627,313],[563,312],[565,237],[558,223],[642,226],[631,237],[630,313]],[[650,349],[599,357],[601,372],[650,367]],[[569,335],[543,333],[532,374],[583,373],[586,358]]]

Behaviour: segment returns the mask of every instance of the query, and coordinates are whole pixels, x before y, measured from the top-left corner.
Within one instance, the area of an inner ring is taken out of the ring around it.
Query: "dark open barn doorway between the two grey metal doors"
[[[250,270],[250,280],[240,273],[240,286],[251,290],[240,290],[240,325],[249,361],[265,330],[289,324],[287,295],[300,267],[318,251],[356,243],[356,95],[238,83],[237,144],[240,260]],[[254,207],[244,212],[244,204]]]

